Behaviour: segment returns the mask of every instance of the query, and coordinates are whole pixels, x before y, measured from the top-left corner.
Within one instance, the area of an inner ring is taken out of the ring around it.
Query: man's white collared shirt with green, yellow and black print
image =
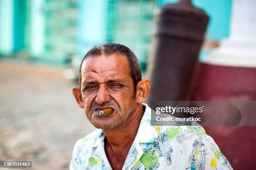
[[[151,126],[146,107],[123,170],[232,170],[202,126]],[[104,150],[105,135],[96,129],[74,146],[70,170],[112,170]]]

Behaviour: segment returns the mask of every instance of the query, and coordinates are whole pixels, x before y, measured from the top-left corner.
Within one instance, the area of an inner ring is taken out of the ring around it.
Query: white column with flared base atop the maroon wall
[[[230,37],[221,40],[204,62],[256,67],[256,0],[233,0]]]

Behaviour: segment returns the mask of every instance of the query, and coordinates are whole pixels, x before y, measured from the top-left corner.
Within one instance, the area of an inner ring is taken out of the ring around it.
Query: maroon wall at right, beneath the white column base
[[[202,63],[195,77],[197,84],[192,100],[256,100],[256,68]],[[204,128],[235,170],[256,167],[256,126]]]

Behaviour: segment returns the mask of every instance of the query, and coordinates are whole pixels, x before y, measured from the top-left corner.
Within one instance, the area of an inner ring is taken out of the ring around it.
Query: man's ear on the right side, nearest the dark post
[[[138,103],[146,101],[150,90],[150,81],[147,78],[139,81],[136,87],[136,99]]]

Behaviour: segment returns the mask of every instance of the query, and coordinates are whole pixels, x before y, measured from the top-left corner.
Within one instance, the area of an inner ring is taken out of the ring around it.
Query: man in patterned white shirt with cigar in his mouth
[[[143,104],[150,90],[141,80],[139,62],[124,45],[102,44],[90,50],[79,67],[73,94],[97,128],[77,141],[71,170],[232,169],[202,127],[151,126]],[[109,115],[100,110],[113,109]]]

